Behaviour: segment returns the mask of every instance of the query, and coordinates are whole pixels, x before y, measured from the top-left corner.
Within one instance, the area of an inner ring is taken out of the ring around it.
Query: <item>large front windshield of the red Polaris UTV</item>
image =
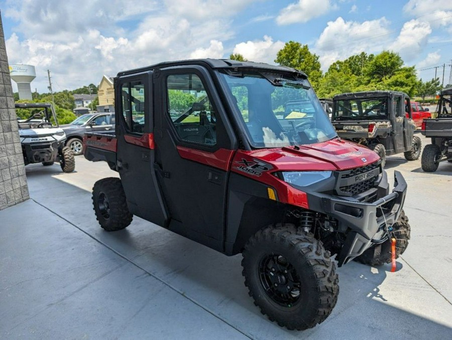
[[[306,79],[253,72],[221,77],[253,147],[314,144],[337,136]]]

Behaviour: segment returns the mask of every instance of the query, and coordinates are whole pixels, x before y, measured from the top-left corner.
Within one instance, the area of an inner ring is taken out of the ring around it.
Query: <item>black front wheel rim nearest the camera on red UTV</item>
[[[261,260],[259,279],[267,295],[281,306],[292,307],[300,298],[300,278],[282,255],[271,254]]]

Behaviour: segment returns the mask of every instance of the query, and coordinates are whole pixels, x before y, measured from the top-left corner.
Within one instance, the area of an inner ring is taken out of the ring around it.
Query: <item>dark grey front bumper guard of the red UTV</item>
[[[371,246],[388,239],[386,226],[390,228],[399,218],[406,189],[407,185],[402,174],[395,171],[392,193],[373,203],[343,200],[316,193],[308,196],[310,206],[311,201],[316,201],[315,205],[321,205],[322,212],[338,221],[338,231],[347,233],[344,246],[336,257],[339,266],[361,255]]]

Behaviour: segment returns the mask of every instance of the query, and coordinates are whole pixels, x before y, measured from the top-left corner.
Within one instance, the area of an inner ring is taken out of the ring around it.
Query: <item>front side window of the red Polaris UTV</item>
[[[195,74],[167,77],[168,116],[179,138],[216,144],[216,115],[201,79]]]

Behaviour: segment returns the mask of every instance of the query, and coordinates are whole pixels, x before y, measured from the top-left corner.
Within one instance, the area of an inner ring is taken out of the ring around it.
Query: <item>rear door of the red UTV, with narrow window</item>
[[[167,214],[154,170],[152,72],[115,80],[118,166],[132,214],[166,226]]]

